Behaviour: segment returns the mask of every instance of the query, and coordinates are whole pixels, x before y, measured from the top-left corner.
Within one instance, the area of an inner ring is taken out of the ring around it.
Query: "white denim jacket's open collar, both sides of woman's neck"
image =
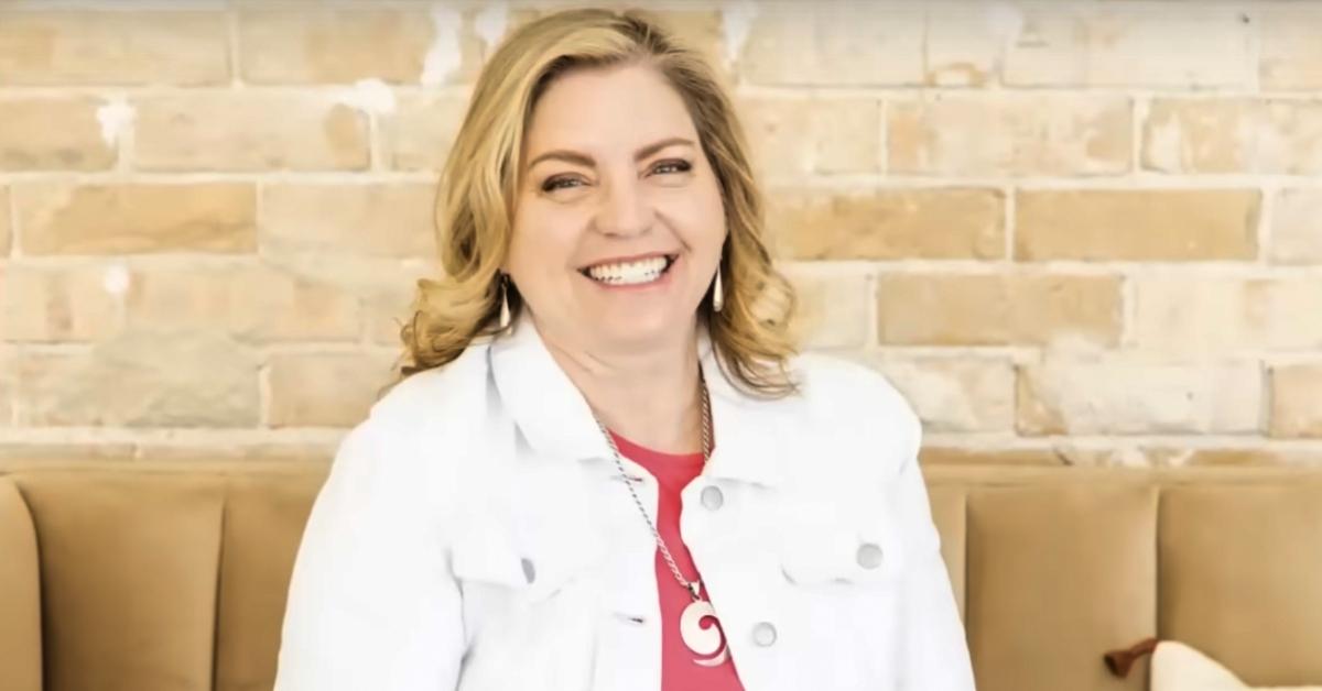
[[[698,324],[698,362],[711,398],[715,447],[703,474],[779,485],[779,441],[791,425],[791,399],[761,400],[735,388],[717,363],[705,324]],[[611,458],[611,447],[592,418],[587,399],[551,357],[527,310],[512,333],[488,346],[488,363],[501,403],[529,445],[547,458]]]

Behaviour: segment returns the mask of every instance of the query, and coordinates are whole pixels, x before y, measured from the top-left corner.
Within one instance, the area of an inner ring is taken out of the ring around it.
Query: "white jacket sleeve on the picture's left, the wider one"
[[[341,441],[295,559],[276,691],[449,691],[464,632],[428,455],[369,418]]]

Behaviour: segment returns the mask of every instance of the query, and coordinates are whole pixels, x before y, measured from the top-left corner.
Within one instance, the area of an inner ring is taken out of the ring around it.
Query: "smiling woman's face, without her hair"
[[[502,267],[538,326],[608,350],[690,333],[726,236],[680,94],[645,66],[571,70],[533,111]]]

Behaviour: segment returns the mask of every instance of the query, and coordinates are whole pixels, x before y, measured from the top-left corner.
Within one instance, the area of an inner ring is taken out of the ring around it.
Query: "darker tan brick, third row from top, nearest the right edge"
[[[1023,260],[1212,260],[1257,256],[1257,190],[1026,190]]]

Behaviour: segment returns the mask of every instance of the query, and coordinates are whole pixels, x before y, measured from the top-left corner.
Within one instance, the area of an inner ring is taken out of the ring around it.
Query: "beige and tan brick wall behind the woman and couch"
[[[0,456],[325,456],[549,3],[0,1]],[[1322,464],[1322,7],[701,3],[809,347],[927,462]]]

